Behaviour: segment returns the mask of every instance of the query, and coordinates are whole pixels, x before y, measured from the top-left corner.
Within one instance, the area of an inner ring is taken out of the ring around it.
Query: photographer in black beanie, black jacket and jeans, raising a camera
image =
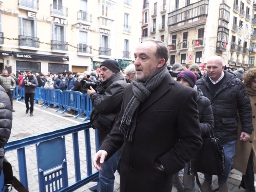
[[[102,86],[98,86],[96,91],[90,86],[87,90],[88,96],[92,100],[93,111],[90,117],[92,128],[99,130],[100,145],[112,130],[120,112],[124,90],[128,84],[124,76],[120,73],[120,67],[115,60],[105,60],[100,64],[100,74],[102,75]],[[103,93],[98,93],[103,90]],[[118,150],[103,166],[104,169],[99,174],[100,191],[113,192],[114,173],[117,170],[120,159]]]

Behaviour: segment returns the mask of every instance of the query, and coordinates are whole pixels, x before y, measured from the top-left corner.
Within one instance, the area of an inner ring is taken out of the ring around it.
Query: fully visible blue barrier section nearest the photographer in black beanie
[[[64,90],[63,95],[64,95],[64,111],[62,111],[61,114],[68,112],[68,108],[70,108],[78,112],[78,114],[74,116],[74,118],[85,117],[83,114],[81,114],[82,106],[84,105],[84,102],[82,100],[83,94],[79,91]]]

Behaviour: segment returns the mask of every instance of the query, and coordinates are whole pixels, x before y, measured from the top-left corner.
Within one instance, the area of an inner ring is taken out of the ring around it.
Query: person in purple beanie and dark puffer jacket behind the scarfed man
[[[202,137],[209,136],[214,127],[214,117],[212,113],[211,102],[208,98],[203,96],[202,91],[197,88],[196,84],[196,74],[190,70],[185,70],[180,72],[177,76],[177,81],[185,86],[190,86],[194,88],[197,92],[196,103],[198,105],[198,115],[200,122],[200,129],[202,132]],[[188,174],[190,173],[190,174]],[[185,164],[184,168],[184,178],[183,185],[185,192],[195,191],[195,158],[191,159]]]

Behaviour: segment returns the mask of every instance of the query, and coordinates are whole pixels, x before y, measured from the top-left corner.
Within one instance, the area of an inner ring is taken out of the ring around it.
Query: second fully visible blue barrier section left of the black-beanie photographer
[[[48,88],[45,89],[46,92],[46,102],[48,102],[48,106],[46,108],[51,107],[52,105],[58,105],[58,109],[56,110],[62,110],[62,106],[64,104],[64,97],[63,97],[63,93],[62,90],[60,89],[52,89],[52,88]]]

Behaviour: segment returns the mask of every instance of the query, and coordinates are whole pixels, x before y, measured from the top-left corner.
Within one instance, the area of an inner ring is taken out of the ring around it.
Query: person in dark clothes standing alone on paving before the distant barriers
[[[25,87],[25,104],[26,114],[30,110],[30,116],[33,116],[34,111],[34,98],[36,93],[36,87],[38,87],[37,79],[32,76],[32,72],[28,70],[27,76],[22,81],[22,87]],[[28,102],[30,102],[30,107]]]

